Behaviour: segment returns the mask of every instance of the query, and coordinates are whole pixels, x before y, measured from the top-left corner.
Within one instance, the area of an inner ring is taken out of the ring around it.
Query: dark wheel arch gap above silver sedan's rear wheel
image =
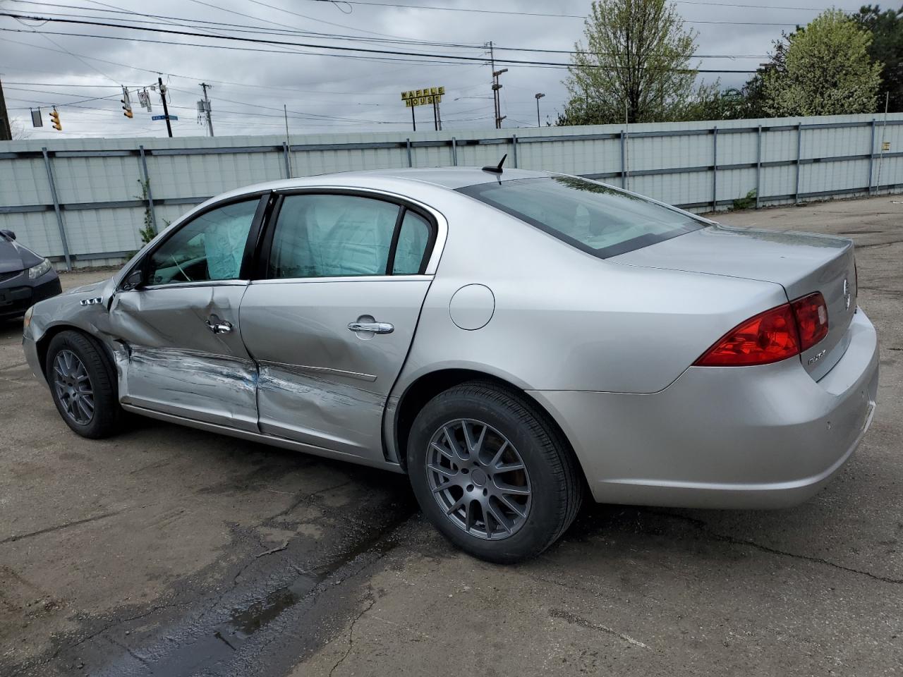
[[[422,376],[418,376],[413,383],[405,388],[405,392],[399,398],[395,410],[395,422],[393,425],[394,442],[398,463],[402,468],[407,470],[407,438],[414,424],[414,419],[424,404],[429,402],[437,394],[440,394],[456,385],[461,385],[470,381],[479,381],[480,383],[489,383],[498,388],[507,391],[518,399],[526,403],[531,409],[535,410],[543,417],[545,422],[557,434],[568,452],[573,455],[573,459],[580,468],[580,476],[586,483],[586,474],[583,471],[580,457],[573,450],[573,445],[564,433],[562,426],[557,422],[545,406],[538,402],[523,388],[514,385],[510,381],[500,377],[479,371],[477,369],[464,368],[447,368],[428,372]]]

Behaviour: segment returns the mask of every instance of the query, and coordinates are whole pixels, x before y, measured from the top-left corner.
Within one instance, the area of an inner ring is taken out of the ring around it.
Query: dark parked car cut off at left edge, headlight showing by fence
[[[49,259],[0,230],[0,320],[22,317],[34,303],[61,292],[60,277]]]

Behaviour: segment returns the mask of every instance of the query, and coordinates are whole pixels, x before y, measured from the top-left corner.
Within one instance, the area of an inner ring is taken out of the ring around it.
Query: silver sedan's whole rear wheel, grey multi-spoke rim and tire
[[[493,383],[436,395],[414,420],[407,450],[424,515],[483,560],[543,552],[581,505],[582,478],[567,443],[535,403]]]

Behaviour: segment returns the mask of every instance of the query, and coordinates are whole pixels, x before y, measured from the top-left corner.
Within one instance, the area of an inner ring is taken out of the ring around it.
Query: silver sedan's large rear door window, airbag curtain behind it
[[[397,205],[353,195],[288,195],[267,277],[385,275]]]

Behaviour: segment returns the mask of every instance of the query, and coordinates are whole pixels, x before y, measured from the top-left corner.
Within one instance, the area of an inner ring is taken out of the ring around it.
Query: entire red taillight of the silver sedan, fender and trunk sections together
[[[694,366],[769,365],[799,355],[828,334],[828,309],[815,292],[731,329]]]

